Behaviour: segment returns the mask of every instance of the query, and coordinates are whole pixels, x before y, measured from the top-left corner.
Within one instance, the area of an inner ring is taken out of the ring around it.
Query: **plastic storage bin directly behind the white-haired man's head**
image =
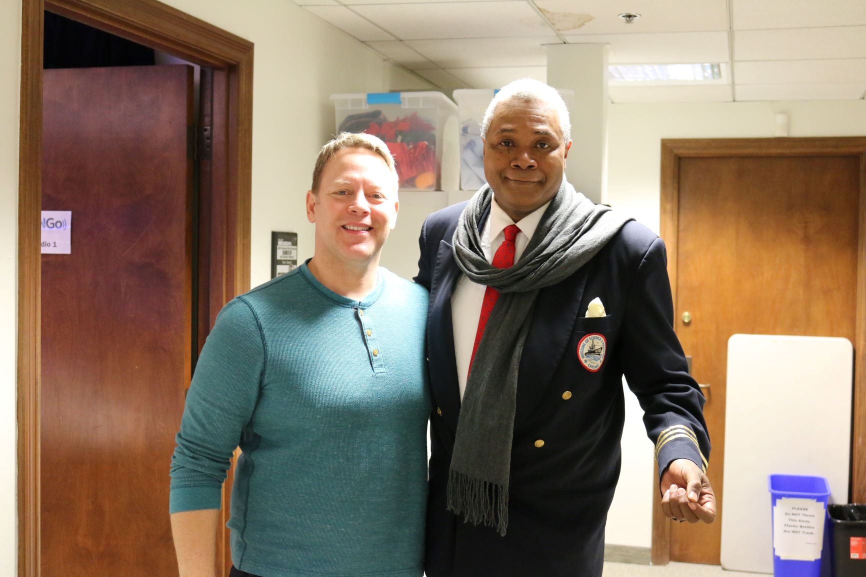
[[[486,182],[482,160],[481,120],[496,90],[493,88],[458,88],[454,91],[457,116],[460,120],[460,188],[477,191]],[[565,107],[571,112],[573,90],[559,90]]]

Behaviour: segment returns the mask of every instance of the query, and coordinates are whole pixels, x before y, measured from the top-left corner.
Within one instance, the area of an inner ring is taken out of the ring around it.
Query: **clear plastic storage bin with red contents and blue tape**
[[[443,133],[449,118],[453,123],[457,117],[456,105],[445,94],[332,94],[331,100],[337,133],[369,133],[385,140],[397,161],[400,190],[441,190]]]

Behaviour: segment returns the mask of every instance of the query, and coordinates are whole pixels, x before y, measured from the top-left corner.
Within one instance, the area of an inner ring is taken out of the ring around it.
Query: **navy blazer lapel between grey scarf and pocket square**
[[[535,299],[533,320],[520,357],[514,426],[533,412],[559,367],[580,312],[590,267],[542,289]]]

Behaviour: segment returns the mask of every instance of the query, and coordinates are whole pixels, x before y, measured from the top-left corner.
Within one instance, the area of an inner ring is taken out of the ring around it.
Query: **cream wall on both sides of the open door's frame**
[[[255,43],[252,283],[270,276],[271,230],[300,234],[313,161],[333,132],[333,93],[430,85],[286,0],[168,0]],[[0,2],[0,577],[16,574],[16,235],[21,0]]]

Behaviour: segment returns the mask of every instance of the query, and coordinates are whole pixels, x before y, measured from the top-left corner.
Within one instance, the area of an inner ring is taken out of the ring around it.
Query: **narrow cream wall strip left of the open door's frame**
[[[16,237],[21,2],[0,2],[0,576],[16,574]]]

